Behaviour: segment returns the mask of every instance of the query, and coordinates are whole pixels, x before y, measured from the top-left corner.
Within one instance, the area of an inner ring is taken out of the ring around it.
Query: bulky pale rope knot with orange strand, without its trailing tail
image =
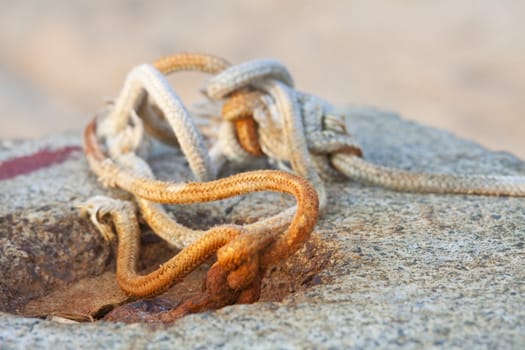
[[[230,160],[267,155],[286,170],[287,163],[292,163],[294,170],[309,179],[312,176],[306,173],[312,163],[321,177],[333,179],[341,174],[331,164],[332,155],[362,156],[346,130],[344,116],[334,114],[333,107],[320,98],[294,90],[290,73],[278,61],[231,66],[212,77],[205,90],[211,99],[223,101],[219,143]],[[294,161],[301,144],[309,159]],[[304,171],[296,169],[300,162]]]

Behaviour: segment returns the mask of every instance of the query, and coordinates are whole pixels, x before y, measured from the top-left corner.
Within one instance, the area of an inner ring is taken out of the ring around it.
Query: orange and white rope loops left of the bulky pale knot
[[[225,65],[225,61],[205,55],[179,55],[156,63],[165,74],[183,69],[216,72]],[[103,184],[135,196],[141,214],[154,232],[174,245],[186,247],[154,272],[138,275],[135,266],[139,228],[133,205],[107,197],[93,198],[84,209],[102,234],[113,239],[115,233],[111,226],[103,223],[104,217],[110,217],[119,239],[119,285],[135,296],[159,294],[216,252],[217,263],[208,272],[208,281],[213,283],[210,282],[203,295],[190,299],[183,309],[177,308],[171,315],[257,300],[260,279],[267,267],[299,249],[313,230],[318,216],[315,190],[306,180],[279,171],[247,172],[211,182],[186,184],[155,180],[148,164],[138,156],[144,126],[135,110],[149,113],[145,118],[146,129],[158,131],[161,125],[155,109],[144,107],[146,98],[156,103],[173,130],[173,135],[166,134],[167,128],[162,127],[155,136],[171,143],[176,137],[197,179],[208,180],[216,175],[191,116],[161,71],[151,65],[133,69],[108,115],[86,127],[85,153]],[[150,123],[154,118],[157,118],[156,124]],[[101,141],[105,142],[107,152]],[[222,225],[198,231],[178,224],[160,206],[160,203],[220,200],[255,191],[291,194],[297,199],[297,207],[250,225]],[[164,320],[170,319],[169,315],[166,317]]]

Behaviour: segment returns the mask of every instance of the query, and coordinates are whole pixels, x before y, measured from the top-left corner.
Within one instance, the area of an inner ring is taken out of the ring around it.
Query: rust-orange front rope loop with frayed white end
[[[284,234],[279,234],[282,230],[275,229],[279,229],[283,223],[289,223],[289,213],[267,220],[266,225],[217,226],[204,232],[159,269],[145,276],[138,275],[136,271],[140,231],[133,206],[129,202],[107,197],[91,199],[84,209],[91,213],[93,222],[108,239],[112,239],[115,234],[100,220],[109,214],[114,223],[119,238],[117,280],[121,288],[132,295],[151,296],[163,292],[217,252],[220,273],[226,274],[227,287],[224,288],[236,295],[234,299],[237,300],[244,289],[253,287],[254,279],[262,276],[268,266],[295,252],[309,237],[317,222],[318,201],[315,190],[306,180],[292,174],[260,170],[212,182],[184,184],[154,181],[122,168],[104,155],[97,141],[96,119],[85,130],[84,144],[86,156],[96,174],[102,177],[111,175],[115,186],[150,201],[188,204],[220,200],[254,191],[283,192],[297,199],[297,210]],[[273,225],[269,226],[268,223]],[[210,275],[208,277],[214,278]],[[220,288],[221,293],[224,288]],[[258,294],[253,296],[258,298]],[[217,295],[213,296],[214,303],[217,298]],[[224,296],[225,303],[227,300],[230,300],[229,297]]]

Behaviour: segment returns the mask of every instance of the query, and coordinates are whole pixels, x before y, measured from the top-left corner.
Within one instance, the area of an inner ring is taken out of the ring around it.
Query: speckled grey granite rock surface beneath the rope
[[[525,174],[525,163],[511,154],[488,152],[394,114],[353,109],[349,126],[365,158],[375,163],[434,172]],[[0,159],[44,146],[79,143],[71,135],[4,141]],[[181,169],[176,176],[188,175],[186,164],[180,155],[176,157]],[[158,168],[164,163],[168,160],[163,156],[157,159]],[[327,189],[328,209],[315,234],[336,247],[334,261],[316,275],[320,283],[299,288],[282,302],[226,307],[187,316],[166,328],[60,324],[1,314],[0,347],[517,349],[525,345],[525,199],[405,194],[355,182],[331,183]],[[16,312],[16,305],[34,297],[39,288],[67,283],[68,271],[58,273],[55,262],[71,269],[85,266],[85,275],[105,268],[108,248],[74,210],[76,202],[100,193],[105,190],[96,184],[81,153],[59,165],[0,181],[4,311]],[[253,219],[278,210],[279,203],[275,195],[258,194],[242,202],[199,208],[211,213],[206,224],[212,224]],[[202,216],[193,213],[195,208],[184,209],[187,222]],[[85,242],[82,249],[68,247],[65,233],[80,235]],[[86,259],[96,263],[86,265]],[[17,284],[22,278],[23,283]],[[29,296],[20,296],[26,293],[24,286],[30,288]]]

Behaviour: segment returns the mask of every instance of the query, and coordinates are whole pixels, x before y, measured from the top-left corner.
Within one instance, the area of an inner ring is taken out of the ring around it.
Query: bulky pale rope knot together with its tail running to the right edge
[[[277,162],[290,162],[294,171],[315,184],[323,204],[323,187],[312,175],[312,164],[325,179],[344,176],[397,191],[525,196],[524,176],[417,173],[366,162],[333,106],[291,86],[290,91],[269,93],[264,88],[268,82],[291,85],[292,79],[282,64],[259,60],[228,67],[208,81],[208,96],[224,102],[223,117],[234,123],[220,127],[218,148],[237,162],[247,162],[260,151]],[[295,107],[290,113],[286,105],[294,103],[300,111]],[[290,124],[295,126],[292,131],[286,128]],[[309,155],[301,151],[304,139]]]

